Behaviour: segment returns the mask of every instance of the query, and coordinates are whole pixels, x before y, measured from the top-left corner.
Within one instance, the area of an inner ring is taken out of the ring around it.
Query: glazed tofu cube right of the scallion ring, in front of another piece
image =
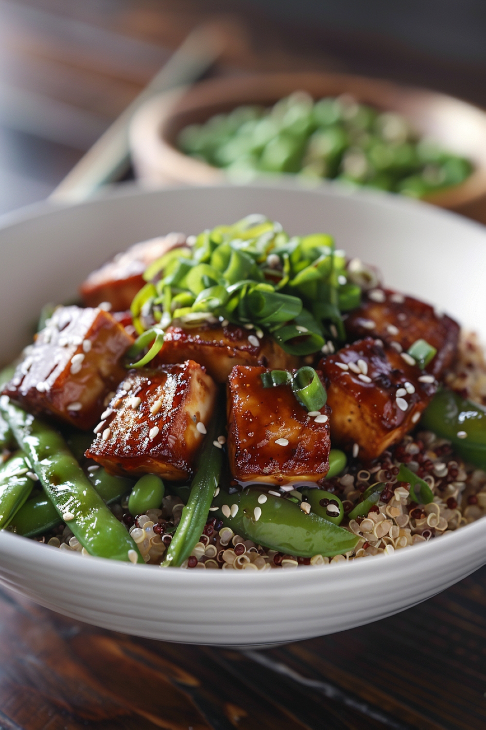
[[[321,360],[333,445],[372,461],[415,426],[436,383],[411,360],[372,337]]]

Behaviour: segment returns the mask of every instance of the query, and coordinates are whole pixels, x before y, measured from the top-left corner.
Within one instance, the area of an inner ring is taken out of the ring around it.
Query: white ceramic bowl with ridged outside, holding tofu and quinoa
[[[73,296],[91,269],[166,231],[188,234],[264,212],[291,233],[329,231],[386,283],[434,301],[486,337],[486,231],[415,201],[295,188],[184,188],[29,209],[0,228],[0,331],[7,361],[45,301]],[[352,562],[265,573],[162,570],[61,553],[0,531],[0,582],[65,615],[175,642],[265,645],[376,621],[486,562],[486,520],[431,542]]]

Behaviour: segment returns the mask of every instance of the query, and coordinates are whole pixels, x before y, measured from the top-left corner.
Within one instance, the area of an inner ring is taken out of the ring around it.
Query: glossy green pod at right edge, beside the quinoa
[[[420,426],[452,442],[464,461],[486,469],[486,408],[454,391],[439,391],[420,419]]]

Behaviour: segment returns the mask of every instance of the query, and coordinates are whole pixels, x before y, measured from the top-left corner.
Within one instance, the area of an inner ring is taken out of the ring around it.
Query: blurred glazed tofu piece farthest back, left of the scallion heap
[[[181,233],[152,238],[118,253],[111,261],[92,272],[81,285],[79,293],[87,307],[98,307],[109,301],[112,309],[120,312],[130,309],[133,297],[144,286],[143,274],[147,266],[157,261],[172,248],[186,242]]]

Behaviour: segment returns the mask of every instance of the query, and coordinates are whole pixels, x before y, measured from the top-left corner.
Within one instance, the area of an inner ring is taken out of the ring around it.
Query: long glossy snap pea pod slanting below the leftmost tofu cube
[[[26,451],[58,515],[90,555],[144,563],[125,527],[110,512],[55,429],[0,398],[0,410]]]

